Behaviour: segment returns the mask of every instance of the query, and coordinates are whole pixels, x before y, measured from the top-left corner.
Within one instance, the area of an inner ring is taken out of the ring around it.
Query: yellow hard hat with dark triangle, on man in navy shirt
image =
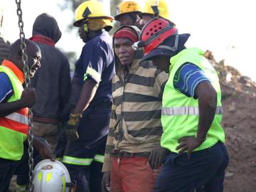
[[[111,28],[113,26],[114,18],[104,11],[103,4],[97,0],[85,1],[75,9],[75,23],[73,25],[80,26],[81,21],[88,21],[93,18],[102,18],[107,21],[107,26]]]

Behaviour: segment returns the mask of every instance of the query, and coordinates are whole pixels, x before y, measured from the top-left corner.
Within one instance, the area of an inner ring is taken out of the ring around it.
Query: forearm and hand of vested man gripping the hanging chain
[[[25,107],[31,107],[36,102],[36,92],[34,89],[23,90],[21,99],[14,102],[0,103],[0,117],[21,110]]]

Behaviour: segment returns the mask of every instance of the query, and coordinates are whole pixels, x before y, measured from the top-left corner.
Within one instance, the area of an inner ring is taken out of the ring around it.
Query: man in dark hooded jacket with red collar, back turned
[[[55,43],[60,40],[58,23],[48,14],[41,14],[33,23],[30,38],[41,49],[42,67],[31,81],[36,88],[37,102],[33,106],[33,134],[43,137],[55,151],[58,122],[70,95],[70,65]]]

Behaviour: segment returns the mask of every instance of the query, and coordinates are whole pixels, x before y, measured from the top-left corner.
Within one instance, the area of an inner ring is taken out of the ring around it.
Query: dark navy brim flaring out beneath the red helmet
[[[152,60],[152,58],[156,56],[165,55],[165,56],[172,57],[176,55],[176,53],[178,53],[181,49],[183,49],[183,46],[185,45],[186,41],[188,41],[189,36],[190,34],[188,33],[178,34],[178,49],[176,51],[172,51],[166,48],[156,47],[150,53],[144,55],[140,63],[144,62],[145,60]],[[172,46],[174,45],[174,41],[175,41],[175,36],[171,36],[169,38],[166,38],[166,40],[163,43],[161,43],[161,46]]]

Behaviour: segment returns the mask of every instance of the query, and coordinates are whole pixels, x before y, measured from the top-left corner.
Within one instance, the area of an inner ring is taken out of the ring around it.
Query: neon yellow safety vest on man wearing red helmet
[[[178,152],[178,139],[195,136],[198,129],[199,107],[198,99],[187,97],[174,88],[174,75],[184,63],[197,65],[215,88],[218,99],[213,123],[208,131],[208,137],[201,146],[194,149],[199,151],[213,146],[218,141],[225,142],[225,133],[220,126],[222,119],[221,91],[218,75],[213,66],[203,57],[203,50],[186,48],[170,60],[169,80],[164,87],[161,123],[164,133],[161,137],[161,146],[173,152]]]

